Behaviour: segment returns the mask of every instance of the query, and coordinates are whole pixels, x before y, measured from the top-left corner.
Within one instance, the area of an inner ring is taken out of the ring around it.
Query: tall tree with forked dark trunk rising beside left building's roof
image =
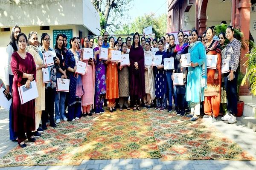
[[[91,0],[94,8],[100,16],[100,26],[102,30],[106,30],[108,24],[108,18],[111,11],[115,14],[122,16],[124,9],[132,0]],[[113,23],[111,23],[113,24]]]

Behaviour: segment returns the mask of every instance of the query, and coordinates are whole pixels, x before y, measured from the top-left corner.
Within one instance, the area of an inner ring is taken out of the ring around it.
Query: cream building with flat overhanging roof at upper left
[[[50,47],[54,47],[54,38],[58,33],[67,37],[99,35],[99,14],[90,0],[1,0],[0,1],[0,57],[5,56],[6,46],[10,42],[12,27],[20,26],[26,35],[30,31],[48,33]],[[69,41],[69,40],[68,40]],[[0,65],[0,78],[3,69]]]

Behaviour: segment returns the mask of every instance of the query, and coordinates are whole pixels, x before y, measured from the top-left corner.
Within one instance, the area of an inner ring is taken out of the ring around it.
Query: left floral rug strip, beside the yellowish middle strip
[[[32,165],[79,165],[82,160],[71,159],[83,142],[95,116],[74,122],[61,122],[48,126],[36,142],[26,142],[27,147],[17,146],[0,159],[0,167]]]

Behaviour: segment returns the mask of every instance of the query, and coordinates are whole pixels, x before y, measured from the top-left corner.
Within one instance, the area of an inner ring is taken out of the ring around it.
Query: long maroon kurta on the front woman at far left
[[[18,92],[18,85],[25,85],[27,79],[23,79],[23,73],[34,74],[36,68],[34,58],[31,54],[26,53],[26,58],[22,59],[17,52],[12,54],[11,68],[14,74],[12,83],[12,114],[14,131],[19,132],[21,129],[25,132],[35,130],[35,99],[21,105]]]

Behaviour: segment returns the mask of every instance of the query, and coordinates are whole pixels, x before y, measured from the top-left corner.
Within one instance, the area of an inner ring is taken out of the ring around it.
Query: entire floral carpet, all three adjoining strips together
[[[154,109],[61,122],[26,144],[3,156],[0,167],[79,165],[82,159],[255,160],[212,123]]]

